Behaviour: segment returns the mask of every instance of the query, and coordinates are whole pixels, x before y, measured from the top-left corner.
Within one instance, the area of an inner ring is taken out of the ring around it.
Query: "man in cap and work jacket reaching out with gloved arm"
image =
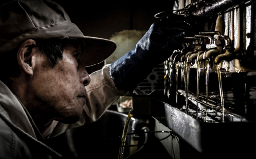
[[[84,36],[51,1],[1,6],[0,159],[61,156],[44,140],[99,119],[168,58],[189,30],[177,16],[160,20],[134,50],[89,76],[84,67],[106,59],[114,42]]]

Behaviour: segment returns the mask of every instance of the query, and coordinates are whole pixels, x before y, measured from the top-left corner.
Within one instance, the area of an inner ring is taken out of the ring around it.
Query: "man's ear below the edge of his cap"
[[[17,60],[20,67],[30,75],[33,75],[33,68],[35,67],[34,51],[33,48],[36,46],[36,42],[32,39],[24,41],[18,52]]]

